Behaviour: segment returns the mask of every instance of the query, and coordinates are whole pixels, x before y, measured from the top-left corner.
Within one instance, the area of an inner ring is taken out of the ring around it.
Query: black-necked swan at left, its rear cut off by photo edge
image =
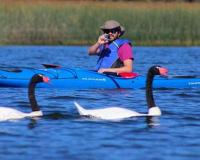
[[[35,99],[35,86],[39,82],[47,83],[48,81],[49,81],[48,77],[45,77],[41,74],[35,74],[31,78],[31,80],[29,82],[29,86],[28,86],[28,98],[29,98],[32,112],[24,113],[24,112],[21,112],[21,111],[18,111],[16,109],[9,108],[9,107],[0,107],[0,121],[16,120],[16,119],[21,119],[21,118],[25,118],[25,117],[42,116],[43,113],[40,110],[40,108],[37,104],[37,101]]]

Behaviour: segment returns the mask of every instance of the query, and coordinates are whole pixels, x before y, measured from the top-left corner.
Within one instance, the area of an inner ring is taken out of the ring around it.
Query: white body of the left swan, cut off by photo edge
[[[43,115],[42,111],[24,113],[12,108],[0,107],[0,121],[16,120],[16,119],[22,119],[25,117],[38,117],[42,115]]]

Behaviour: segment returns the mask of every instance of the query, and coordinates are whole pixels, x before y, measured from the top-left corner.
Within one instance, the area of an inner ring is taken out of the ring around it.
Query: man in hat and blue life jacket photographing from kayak
[[[103,34],[88,49],[89,55],[98,55],[96,70],[103,72],[132,72],[133,52],[131,42],[121,39],[125,29],[115,20],[108,20],[100,27]]]

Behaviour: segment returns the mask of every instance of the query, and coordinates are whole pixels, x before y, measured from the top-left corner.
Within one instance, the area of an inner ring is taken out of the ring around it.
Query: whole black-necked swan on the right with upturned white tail
[[[155,75],[166,75],[168,70],[160,66],[152,66],[147,73],[146,79],[146,101],[148,106],[148,113],[142,114],[133,110],[121,107],[109,107],[103,109],[85,109],[77,102],[74,102],[78,112],[82,116],[89,116],[103,120],[121,120],[136,116],[160,116],[161,110],[155,105],[152,91],[152,83]]]

